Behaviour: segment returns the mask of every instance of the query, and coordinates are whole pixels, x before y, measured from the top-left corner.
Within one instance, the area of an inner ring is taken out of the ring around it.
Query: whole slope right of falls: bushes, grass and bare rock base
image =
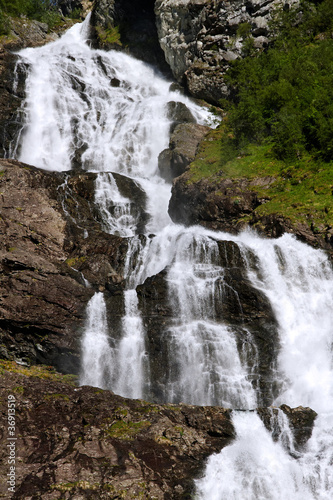
[[[333,2],[301,8],[277,14],[269,49],[232,64],[227,116],[175,183],[175,220],[332,248]]]

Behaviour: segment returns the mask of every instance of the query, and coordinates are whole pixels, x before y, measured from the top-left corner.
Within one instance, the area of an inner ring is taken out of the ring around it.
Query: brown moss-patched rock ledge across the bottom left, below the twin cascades
[[[235,437],[228,409],[153,405],[75,387],[52,370],[3,361],[0,368],[2,420],[9,414],[11,423],[15,419],[11,432],[17,438],[8,448],[3,426],[1,496],[8,494],[11,472],[13,499],[189,499],[205,459]],[[315,412],[281,409],[297,432],[305,427],[304,444]],[[260,409],[258,414],[269,427],[277,411]],[[9,455],[15,462],[11,470]]]

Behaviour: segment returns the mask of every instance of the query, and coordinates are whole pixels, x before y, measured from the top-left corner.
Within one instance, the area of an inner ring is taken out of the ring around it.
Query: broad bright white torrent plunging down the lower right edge
[[[310,406],[319,415],[295,460],[284,443],[271,441],[258,416],[235,413],[237,440],[209,459],[197,481],[197,498],[328,500],[333,492],[331,266],[324,252],[290,235],[264,241],[245,234],[241,242],[260,259],[249,277],[269,297],[279,323],[282,390],[274,404]]]

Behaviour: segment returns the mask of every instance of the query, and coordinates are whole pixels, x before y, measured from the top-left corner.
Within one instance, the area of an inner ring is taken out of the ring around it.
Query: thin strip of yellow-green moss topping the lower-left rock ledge
[[[18,373],[20,375],[24,375],[25,377],[36,377],[44,380],[53,380],[55,382],[63,382],[69,385],[76,386],[75,375],[62,375],[55,371],[52,366],[44,366],[44,365],[34,365],[30,367],[21,366],[15,361],[8,361],[1,359],[0,360],[0,369],[2,373],[7,371],[10,373]]]

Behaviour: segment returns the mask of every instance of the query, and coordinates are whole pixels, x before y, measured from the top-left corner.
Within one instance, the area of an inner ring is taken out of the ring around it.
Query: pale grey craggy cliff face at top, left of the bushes
[[[223,81],[230,61],[242,57],[248,44],[265,47],[271,36],[274,8],[295,3],[280,0],[157,0],[157,30],[174,77],[190,93],[217,104],[228,96]]]

